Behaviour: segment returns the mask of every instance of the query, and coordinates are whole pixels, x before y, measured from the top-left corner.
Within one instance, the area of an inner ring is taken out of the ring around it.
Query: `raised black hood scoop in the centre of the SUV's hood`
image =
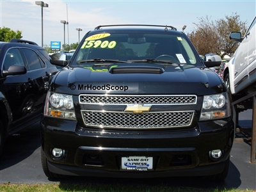
[[[162,67],[148,67],[148,66],[124,66],[112,67],[109,69],[111,74],[163,74]]]

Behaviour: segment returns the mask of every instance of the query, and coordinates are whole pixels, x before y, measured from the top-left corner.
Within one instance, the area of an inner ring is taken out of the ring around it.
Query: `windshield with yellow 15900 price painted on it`
[[[88,36],[74,62],[81,64],[102,60],[131,63],[166,60],[184,65],[196,64],[195,54],[185,38],[162,33],[115,32]]]

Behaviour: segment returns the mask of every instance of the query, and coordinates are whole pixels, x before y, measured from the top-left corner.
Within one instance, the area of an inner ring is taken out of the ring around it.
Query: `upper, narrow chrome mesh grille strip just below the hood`
[[[196,95],[79,95],[81,104],[196,104]]]

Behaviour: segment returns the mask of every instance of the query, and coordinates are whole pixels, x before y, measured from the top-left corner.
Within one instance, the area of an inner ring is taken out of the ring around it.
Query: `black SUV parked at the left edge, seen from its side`
[[[0,42],[0,148],[7,136],[42,118],[49,79],[58,72],[43,47]]]

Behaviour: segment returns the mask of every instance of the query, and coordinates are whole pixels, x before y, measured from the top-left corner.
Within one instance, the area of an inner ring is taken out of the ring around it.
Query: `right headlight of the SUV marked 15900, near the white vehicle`
[[[227,118],[230,116],[230,112],[230,102],[228,100],[227,93],[205,95],[201,109],[200,121]]]

